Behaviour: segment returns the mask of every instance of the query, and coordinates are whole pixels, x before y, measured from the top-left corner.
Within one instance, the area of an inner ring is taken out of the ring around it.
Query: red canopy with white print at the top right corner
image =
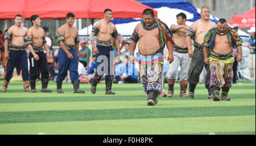
[[[228,21],[228,23],[239,28],[255,27],[255,7],[245,14],[234,15],[233,20]]]

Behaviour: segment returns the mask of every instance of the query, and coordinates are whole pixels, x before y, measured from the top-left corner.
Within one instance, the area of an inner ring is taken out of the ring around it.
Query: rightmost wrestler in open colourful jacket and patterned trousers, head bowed
[[[230,101],[228,92],[232,85],[233,49],[237,48],[237,62],[242,61],[242,40],[225,19],[218,20],[217,27],[210,29],[204,37],[204,63],[210,64],[210,89],[214,101]],[[208,58],[208,49],[210,56]]]

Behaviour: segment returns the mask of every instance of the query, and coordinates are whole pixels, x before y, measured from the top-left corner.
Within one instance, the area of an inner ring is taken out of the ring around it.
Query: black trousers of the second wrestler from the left
[[[30,80],[35,81],[38,78],[38,70],[41,72],[42,79],[49,79],[48,65],[46,54],[43,51],[38,53],[39,61],[36,61],[32,53],[29,54],[30,59]]]

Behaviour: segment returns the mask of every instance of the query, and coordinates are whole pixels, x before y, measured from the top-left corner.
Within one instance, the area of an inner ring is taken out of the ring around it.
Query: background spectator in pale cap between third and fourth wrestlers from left
[[[86,48],[85,40],[81,40],[80,45],[82,49],[79,50],[79,54],[78,54],[79,62],[81,62],[82,65],[84,65],[84,67],[86,67],[88,65],[87,57],[90,58],[90,50],[88,51],[89,54],[87,54],[88,48]]]

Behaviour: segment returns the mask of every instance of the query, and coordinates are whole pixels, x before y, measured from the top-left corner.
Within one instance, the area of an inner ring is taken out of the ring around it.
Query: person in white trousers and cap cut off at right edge
[[[250,33],[248,48],[250,49],[248,67],[251,74],[251,83],[255,83],[255,27],[251,27],[247,32]]]

